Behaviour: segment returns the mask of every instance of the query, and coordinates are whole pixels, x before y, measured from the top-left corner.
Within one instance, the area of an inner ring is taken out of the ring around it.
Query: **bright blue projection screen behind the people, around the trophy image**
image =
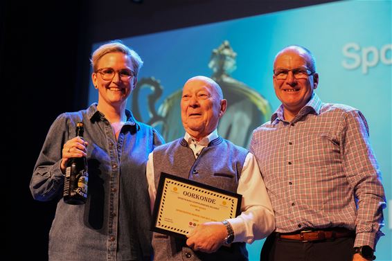
[[[227,40],[237,53],[237,69],[231,77],[258,91],[274,111],[280,105],[272,85],[274,56],[290,44],[309,48],[316,58],[319,87],[315,92],[321,100],[356,107],[368,120],[388,205],[382,228],[386,235],[375,254],[377,260],[392,260],[391,14],[391,1],[339,1],[122,40],[144,61],[138,78],[153,76],[163,86],[157,109],[188,78],[211,76],[211,52]],[[100,44],[94,44],[93,50]],[[139,120],[147,122],[143,96],[148,90],[139,94]],[[89,103],[97,101],[98,93],[90,84]],[[131,105],[129,100],[129,109]],[[250,260],[259,260],[263,241],[247,245]]]

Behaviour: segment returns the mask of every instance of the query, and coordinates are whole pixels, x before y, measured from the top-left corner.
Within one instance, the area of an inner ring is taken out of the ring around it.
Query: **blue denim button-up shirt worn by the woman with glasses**
[[[145,163],[163,138],[138,123],[130,111],[118,140],[94,103],[88,109],[64,113],[51,125],[35,164],[30,190],[39,201],[56,200],[49,233],[49,260],[150,260],[150,201]],[[62,147],[84,123],[89,172],[84,205],[65,204]]]

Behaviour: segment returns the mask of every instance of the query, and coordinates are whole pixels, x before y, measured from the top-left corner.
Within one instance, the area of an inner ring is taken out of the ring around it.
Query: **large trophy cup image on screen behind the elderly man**
[[[271,117],[269,102],[260,93],[247,84],[235,80],[230,73],[235,71],[235,57],[228,41],[224,41],[218,48],[213,49],[208,67],[213,71],[211,78],[220,85],[228,106],[226,114],[220,120],[218,134],[229,141],[248,147],[253,129],[265,123]],[[139,111],[139,91],[150,88],[148,95],[149,125],[157,127],[166,142],[184,136],[181,123],[181,87],[168,96],[155,110],[155,103],[161,97],[163,87],[159,80],[141,78],[132,95],[132,112],[137,119],[141,119]]]

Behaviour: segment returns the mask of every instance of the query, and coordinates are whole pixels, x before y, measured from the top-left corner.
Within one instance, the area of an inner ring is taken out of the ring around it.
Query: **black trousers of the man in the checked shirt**
[[[355,237],[300,242],[272,233],[262,246],[260,261],[351,261]]]

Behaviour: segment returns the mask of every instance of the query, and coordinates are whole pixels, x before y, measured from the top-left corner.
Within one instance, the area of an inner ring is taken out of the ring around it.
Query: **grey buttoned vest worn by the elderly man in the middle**
[[[184,138],[161,145],[154,150],[154,179],[158,188],[161,172],[174,174],[209,186],[237,192],[238,180],[248,151],[223,138],[204,147],[195,159]],[[248,260],[244,243],[222,246],[215,253],[194,252],[186,240],[154,233],[154,260]]]

